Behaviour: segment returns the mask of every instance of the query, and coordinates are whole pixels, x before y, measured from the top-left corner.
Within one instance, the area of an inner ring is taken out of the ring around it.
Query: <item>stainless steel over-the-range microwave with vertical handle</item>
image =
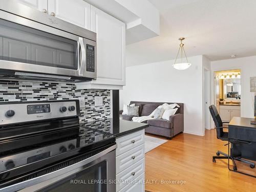
[[[18,8],[14,7],[19,10]],[[22,8],[28,9],[25,10],[27,12],[31,11],[31,8],[26,6]],[[34,12],[31,11],[31,15],[32,13]],[[49,16],[41,15],[40,12],[38,15],[35,12],[35,16],[38,16],[38,19],[44,17],[44,20],[48,20],[51,25],[55,24],[56,27],[60,27],[58,24],[63,23],[60,19],[48,18]],[[0,69],[2,70],[15,71],[17,72],[15,75],[19,76],[32,76],[29,73],[33,73],[36,77],[37,73],[43,73],[95,78],[96,71],[86,69],[87,55],[91,56],[91,50],[87,50],[88,46],[96,48],[96,42],[0,10]]]

